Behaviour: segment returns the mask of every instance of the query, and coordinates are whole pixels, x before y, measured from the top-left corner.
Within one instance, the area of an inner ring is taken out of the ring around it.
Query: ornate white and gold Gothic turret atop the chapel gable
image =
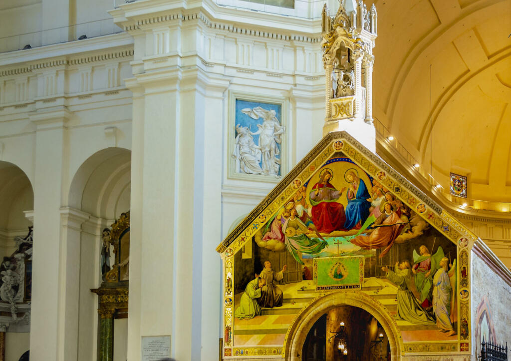
[[[376,7],[344,0],[334,17],[323,7],[321,30],[326,72],[326,118],[323,135],[346,130],[375,151],[373,126],[373,48]]]

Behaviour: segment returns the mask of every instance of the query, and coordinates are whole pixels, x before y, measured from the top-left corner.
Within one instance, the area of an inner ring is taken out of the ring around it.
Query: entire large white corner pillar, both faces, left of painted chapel
[[[143,336],[170,334],[173,357],[208,360],[220,328],[220,314],[212,311],[220,310],[220,260],[210,250],[221,239],[219,151],[228,81],[195,68],[157,79],[139,74],[127,84],[137,105],[128,359],[140,357]]]

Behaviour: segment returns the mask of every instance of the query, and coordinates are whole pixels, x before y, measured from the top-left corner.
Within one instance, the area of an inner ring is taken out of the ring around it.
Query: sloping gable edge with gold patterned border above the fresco
[[[356,165],[372,177],[385,172],[382,184],[399,198],[410,209],[416,210],[419,204],[426,206],[426,211],[417,212],[428,223],[457,243],[462,237],[469,240],[467,249],[471,249],[477,236],[457,219],[443,210],[436,202],[410,183],[403,175],[391,168],[378,155],[371,152],[345,131],[331,132],[324,137],[270,193],[230,232],[217,246],[217,252],[223,253],[231,249],[236,253],[251,240],[255,233],[263,227],[271,217],[289,200],[300,185],[305,184],[336,153],[343,153]],[[230,252],[230,251],[229,251]]]

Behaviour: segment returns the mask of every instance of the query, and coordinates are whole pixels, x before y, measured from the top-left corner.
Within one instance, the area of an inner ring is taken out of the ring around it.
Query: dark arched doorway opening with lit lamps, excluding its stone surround
[[[390,345],[385,330],[366,310],[332,308],[314,323],[301,350],[302,361],[386,360]]]

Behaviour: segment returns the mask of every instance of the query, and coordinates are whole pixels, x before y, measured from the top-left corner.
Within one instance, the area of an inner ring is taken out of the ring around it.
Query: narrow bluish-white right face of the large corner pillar
[[[227,99],[226,91],[228,80],[223,77],[209,76],[205,79],[205,83],[197,84],[197,92],[201,92],[203,88],[203,97],[200,102],[196,102],[197,116],[195,122],[195,143],[202,143],[199,148],[201,154],[197,154],[196,166],[200,168],[203,158],[202,179],[197,184],[198,189],[202,189],[202,205],[195,210],[201,218],[201,224],[197,227],[202,229],[195,243],[194,250],[201,247],[201,256],[196,257],[194,266],[199,264],[202,269],[200,272],[194,272],[194,282],[200,282],[200,325],[196,325],[196,329],[192,329],[190,337],[190,347],[192,348],[192,359],[210,360],[212,350],[218,350],[219,334],[215,330],[220,329],[221,316],[220,310],[222,300],[221,294],[221,278],[218,275],[221,272],[221,261],[218,254],[211,252],[218,245],[218,240],[222,239],[221,227],[222,223],[222,156],[219,151],[222,149],[223,128],[219,121],[224,118],[224,99]],[[199,98],[196,98],[199,100]],[[216,149],[216,151],[215,151]],[[195,172],[197,180],[199,172]],[[197,196],[199,196],[197,194]],[[200,199],[197,199],[200,202]],[[195,218],[195,217],[194,217]],[[201,244],[201,245],[200,245]],[[196,295],[198,296],[198,295]],[[195,296],[194,296],[195,297]],[[199,300],[194,300],[195,302]],[[199,302],[197,302],[199,304]],[[217,311],[216,311],[217,310]],[[193,309],[193,313],[195,313]],[[201,333],[201,347],[195,347],[194,335]],[[195,350],[195,354],[194,354]]]

